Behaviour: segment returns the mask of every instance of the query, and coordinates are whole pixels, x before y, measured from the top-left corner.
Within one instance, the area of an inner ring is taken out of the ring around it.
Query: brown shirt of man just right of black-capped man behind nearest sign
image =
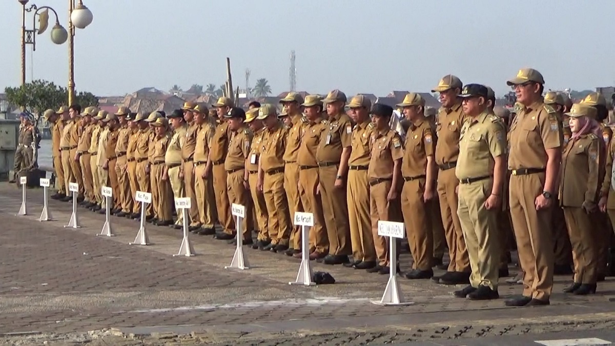
[[[427,175],[427,156],[434,156],[435,134],[427,119],[410,124],[403,144],[402,176],[414,178]]]

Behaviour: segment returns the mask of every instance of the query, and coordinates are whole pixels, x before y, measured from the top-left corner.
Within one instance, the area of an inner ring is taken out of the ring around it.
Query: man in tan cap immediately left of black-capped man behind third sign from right
[[[213,134],[209,156],[213,164],[213,191],[216,197],[216,209],[222,226],[222,231],[216,232],[214,238],[229,240],[235,234],[235,222],[231,215],[231,203],[228,197],[228,186],[226,185],[226,169],[224,169],[224,160],[229,147],[229,129],[224,115],[231,110],[233,102],[228,97],[220,97],[213,107],[216,108],[218,124],[216,125],[216,132]]]

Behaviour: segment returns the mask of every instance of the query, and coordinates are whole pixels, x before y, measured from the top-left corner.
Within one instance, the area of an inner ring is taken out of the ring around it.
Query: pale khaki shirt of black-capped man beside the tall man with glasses
[[[476,118],[467,117],[459,139],[457,179],[493,175],[493,158],[505,155],[506,147],[506,132],[497,116],[485,112]]]

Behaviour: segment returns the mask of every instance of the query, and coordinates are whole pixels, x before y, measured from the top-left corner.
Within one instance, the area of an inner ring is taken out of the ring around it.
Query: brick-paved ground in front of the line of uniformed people
[[[117,236],[95,236],[103,215],[79,208],[83,227],[64,228],[70,204],[50,201],[57,221],[38,222],[41,201],[41,190],[28,190],[31,215],[17,217],[20,190],[0,184],[0,333],[18,333],[0,344],[470,345],[615,326],[613,278],[588,297],[558,293],[568,278],[557,278],[552,305],[536,308],[456,299],[455,288],[400,278],[414,304],[381,307],[370,300],[387,276],[313,264],[336,284],[289,286],[299,261],[285,255],[246,249],[253,268],[225,270],[234,252],[226,242],[192,236],[198,255],[173,257],[180,231],[148,225],[153,244],[130,246],[137,222],[112,217]],[[402,254],[402,270],[409,261]],[[502,282],[499,292],[505,298],[520,286]]]

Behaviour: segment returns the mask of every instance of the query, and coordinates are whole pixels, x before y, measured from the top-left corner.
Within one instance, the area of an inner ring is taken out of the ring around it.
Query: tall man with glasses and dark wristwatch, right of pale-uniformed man
[[[550,207],[556,193],[563,133],[557,113],[542,102],[544,78],[523,68],[507,81],[522,108],[510,126],[510,215],[523,270],[523,296],[508,306],[548,305],[553,289],[554,244]]]

